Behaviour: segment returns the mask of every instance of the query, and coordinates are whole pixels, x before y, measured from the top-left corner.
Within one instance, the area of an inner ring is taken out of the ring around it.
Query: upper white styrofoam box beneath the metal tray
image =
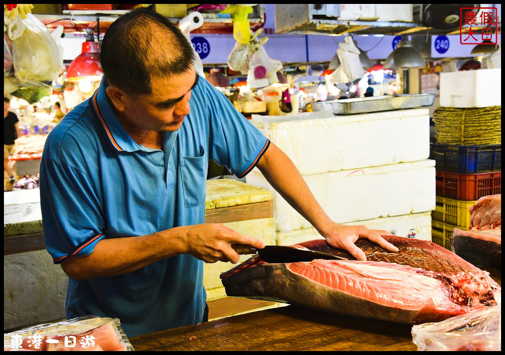
[[[302,175],[415,162],[430,156],[428,109],[333,116],[252,115],[251,122]]]

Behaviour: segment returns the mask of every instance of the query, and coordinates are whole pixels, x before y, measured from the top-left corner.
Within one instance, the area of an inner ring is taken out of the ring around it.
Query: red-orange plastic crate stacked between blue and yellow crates
[[[481,174],[436,172],[436,195],[460,201],[475,201],[501,193],[501,171]]]

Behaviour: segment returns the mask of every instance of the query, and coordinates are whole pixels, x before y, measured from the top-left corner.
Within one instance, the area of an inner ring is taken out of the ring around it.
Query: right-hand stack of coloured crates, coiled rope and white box
[[[465,120],[466,115],[476,112],[484,116],[486,112],[499,112],[500,78],[501,69],[440,76],[441,109],[448,113],[453,110],[455,116],[437,118],[437,111],[434,115],[438,142],[431,143],[430,147],[430,159],[436,162],[436,207],[431,214],[431,225],[433,242],[447,249],[450,249],[454,228],[469,229],[468,208],[482,196],[501,193],[501,138],[489,141],[488,130]],[[489,121],[494,131],[501,131],[501,117],[484,116],[481,121]],[[484,141],[488,144],[471,145]]]

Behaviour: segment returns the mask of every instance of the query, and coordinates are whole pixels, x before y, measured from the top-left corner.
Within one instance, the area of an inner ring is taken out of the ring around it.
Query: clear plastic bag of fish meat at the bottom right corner
[[[501,297],[494,293],[497,305],[485,307],[443,322],[412,327],[418,350],[475,351],[501,350]]]

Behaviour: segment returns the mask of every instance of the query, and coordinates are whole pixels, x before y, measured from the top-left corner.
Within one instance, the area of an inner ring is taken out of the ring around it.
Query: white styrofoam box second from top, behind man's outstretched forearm
[[[435,209],[434,160],[305,175],[303,178],[326,214],[337,223]],[[248,184],[272,191],[277,230],[312,226],[272,188],[258,168],[245,179]]]

